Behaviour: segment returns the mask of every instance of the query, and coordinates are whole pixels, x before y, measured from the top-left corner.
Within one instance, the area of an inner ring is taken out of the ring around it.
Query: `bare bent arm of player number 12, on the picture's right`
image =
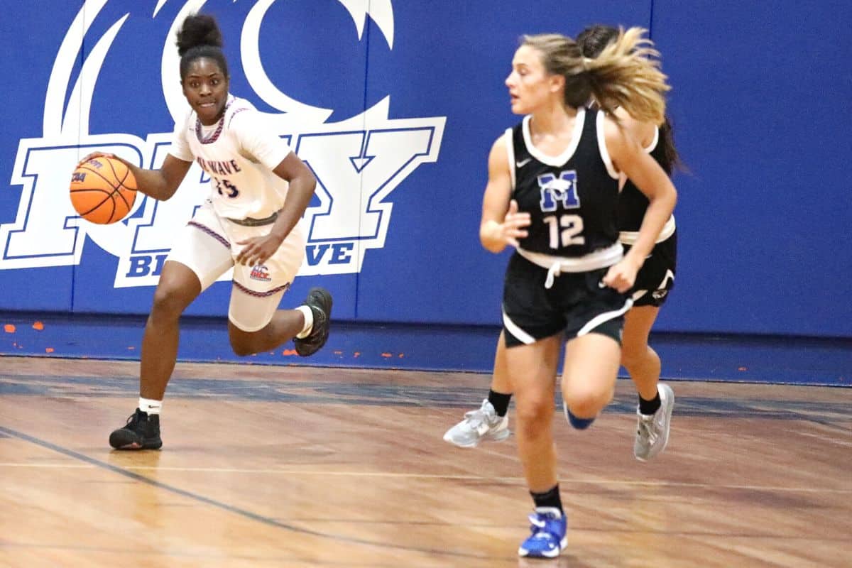
[[[648,198],[648,210],[642,218],[642,227],[639,228],[636,243],[630,246],[630,251],[622,261],[610,267],[603,279],[607,286],[619,292],[626,292],[636,281],[636,273],[645,258],[651,254],[659,233],[674,211],[677,191],[665,170],[642,149],[640,143],[628,131],[607,119],[604,132],[613,166],[624,172]]]

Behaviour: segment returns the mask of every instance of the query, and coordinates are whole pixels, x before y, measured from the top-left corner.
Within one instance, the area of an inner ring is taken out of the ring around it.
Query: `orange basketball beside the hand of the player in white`
[[[86,221],[99,225],[121,221],[135,200],[133,172],[115,158],[86,160],[71,176],[71,204]]]

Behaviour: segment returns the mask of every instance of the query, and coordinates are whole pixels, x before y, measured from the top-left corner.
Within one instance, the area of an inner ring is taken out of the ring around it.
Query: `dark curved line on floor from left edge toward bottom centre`
[[[118,466],[114,466],[111,463],[101,462],[94,457],[89,457],[84,454],[81,454],[74,450],[68,450],[59,445],[55,445],[47,440],[43,440],[40,438],[36,438],[35,436],[31,436],[29,434],[19,432],[17,430],[13,430],[8,427],[0,426],[0,433],[5,433],[6,435],[23,440],[25,442],[29,442],[32,445],[41,446],[47,450],[53,450],[57,453],[60,453],[64,456],[69,456],[78,460],[80,462],[85,462],[95,468],[107,470],[112,473],[118,473],[119,475],[123,475],[126,478],[133,479],[134,481],[138,481],[140,483],[144,483],[147,485],[151,485],[157,489],[163,491],[169,491],[170,493],[174,493],[175,495],[179,495],[182,497],[186,497],[187,499],[191,499],[196,502],[204,503],[205,505],[210,505],[210,507],[221,509],[222,511],[226,511],[227,513],[234,513],[241,517],[245,517],[245,519],[250,519],[262,523],[263,525],[274,526],[279,529],[284,529],[285,531],[291,531],[302,535],[308,536],[317,536],[320,538],[330,538],[331,540],[336,540],[340,542],[349,542],[352,544],[361,544],[370,547],[376,548],[393,548],[395,550],[406,550],[410,552],[417,552],[423,554],[435,554],[439,556],[453,556],[459,558],[469,558],[469,559],[487,559],[487,560],[506,560],[504,557],[496,557],[496,556],[487,556],[485,554],[469,554],[463,552],[457,552],[452,550],[441,550],[438,548],[417,548],[417,547],[409,547],[401,544],[394,544],[392,542],[377,542],[377,541],[368,541],[366,539],[355,538],[354,536],[343,536],[336,535],[327,532],[320,531],[312,531],[310,529],[303,529],[301,527],[295,525],[288,525],[287,523],[281,522],[279,520],[272,519],[270,517],[264,516],[259,513],[252,513],[244,508],[239,508],[235,505],[229,505],[226,502],[217,501],[216,499],[212,499],[207,496],[200,495],[199,493],[194,493],[193,491],[187,491],[176,487],[174,485],[165,484],[161,481],[157,481],[155,479],[150,479],[141,475],[139,473],[133,473],[126,468],[119,468]],[[153,468],[156,469],[156,468]]]

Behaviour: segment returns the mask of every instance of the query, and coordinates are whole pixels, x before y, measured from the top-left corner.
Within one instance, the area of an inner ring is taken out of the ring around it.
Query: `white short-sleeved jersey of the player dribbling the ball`
[[[262,219],[284,206],[288,184],[272,170],[290,152],[255,107],[233,95],[214,127],[205,128],[195,111],[176,123],[169,150],[210,175],[213,209],[230,219]]]

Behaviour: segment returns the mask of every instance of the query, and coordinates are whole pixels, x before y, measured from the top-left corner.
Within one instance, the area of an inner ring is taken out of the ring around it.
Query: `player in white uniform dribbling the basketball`
[[[176,124],[160,169],[124,163],[139,191],[152,198],[170,198],[193,162],[210,175],[211,192],[177,235],[160,274],[142,338],[139,406],[109,439],[120,450],[163,444],[159,413],[175,368],[178,320],[229,268],[228,334],[234,353],[269,351],[293,339],[296,352],[308,356],[325,345],[329,333],[327,290],[310,290],[296,309],[277,309],[302,265],[305,240],[298,221],[314,194],[314,175],[248,101],[228,93],[222,33],[212,16],[188,16],[177,49],[183,94],[192,110]]]

